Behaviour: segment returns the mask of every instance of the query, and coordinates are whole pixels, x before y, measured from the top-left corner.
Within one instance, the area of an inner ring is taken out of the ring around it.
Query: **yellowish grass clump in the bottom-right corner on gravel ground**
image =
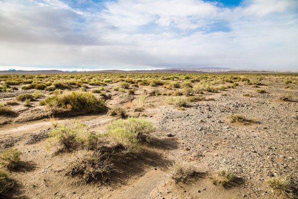
[[[290,199],[295,198],[293,183],[288,176],[276,176],[266,181],[268,186],[276,191],[279,195]]]

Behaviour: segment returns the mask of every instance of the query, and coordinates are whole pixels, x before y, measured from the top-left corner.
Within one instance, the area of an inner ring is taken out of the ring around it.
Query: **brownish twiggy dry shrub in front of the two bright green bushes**
[[[67,163],[67,175],[80,175],[85,183],[97,179],[98,175],[110,173],[113,168],[107,153],[100,150],[83,150],[75,154],[75,158]]]

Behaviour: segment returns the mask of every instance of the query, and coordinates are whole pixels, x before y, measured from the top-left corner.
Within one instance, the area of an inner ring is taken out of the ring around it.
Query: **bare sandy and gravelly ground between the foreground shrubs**
[[[134,96],[109,93],[109,107],[121,104],[130,116],[150,120],[156,126],[156,132],[152,135],[153,142],[145,144],[140,154],[119,162],[117,172],[89,184],[80,184],[78,179],[64,175],[62,168],[70,154],[53,156],[45,150],[43,145],[52,128],[49,119],[43,117],[1,125],[1,150],[16,147],[23,152],[23,162],[27,162],[23,170],[11,171],[16,186],[3,197],[278,198],[265,183],[267,179],[290,175],[298,183],[298,87],[285,89],[281,82],[261,87],[268,93],[256,93],[255,88],[242,83],[236,89],[207,93],[204,94],[207,98],[215,100],[193,102],[185,110],[177,110],[165,103],[168,96],[149,96],[143,112],[134,112],[134,107],[139,105],[139,96],[150,87],[140,87]],[[244,93],[251,93],[252,97],[243,97]],[[281,101],[279,95],[282,93],[292,93],[294,98]],[[2,93],[1,101],[13,97]],[[27,111],[30,110],[35,109]],[[258,122],[231,123],[227,118],[231,113]],[[57,122],[69,123],[74,119],[85,122],[95,132],[102,132],[114,118],[104,113],[63,117]],[[175,184],[169,179],[168,165],[176,160],[193,163],[199,172],[196,179],[186,184]],[[236,174],[238,180],[233,186],[224,188],[211,182],[210,178],[222,168]]]

